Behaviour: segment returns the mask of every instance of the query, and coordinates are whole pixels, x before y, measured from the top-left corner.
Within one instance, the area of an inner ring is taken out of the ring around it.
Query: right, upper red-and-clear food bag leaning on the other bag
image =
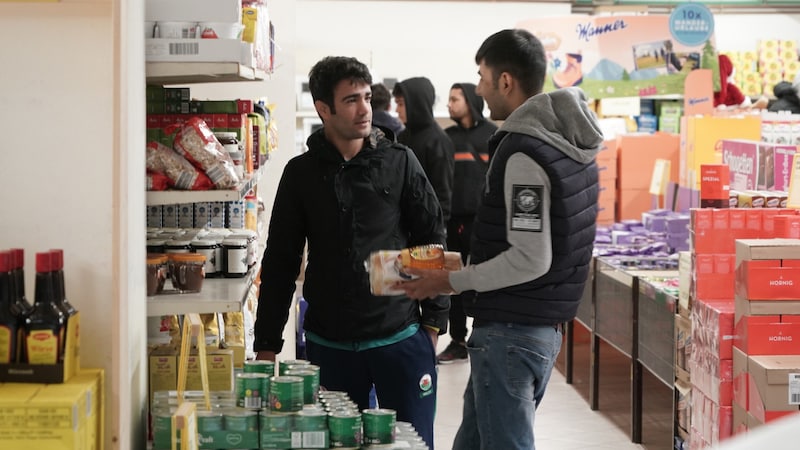
[[[239,184],[233,160],[203,119],[192,117],[180,125],[175,150],[205,172],[217,189],[233,189]]]

